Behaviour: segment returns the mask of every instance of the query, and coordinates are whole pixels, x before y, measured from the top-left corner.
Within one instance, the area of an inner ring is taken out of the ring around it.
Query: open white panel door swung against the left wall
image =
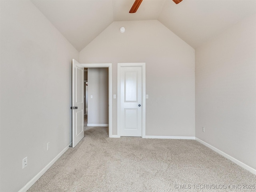
[[[84,138],[84,67],[72,60],[72,147]]]

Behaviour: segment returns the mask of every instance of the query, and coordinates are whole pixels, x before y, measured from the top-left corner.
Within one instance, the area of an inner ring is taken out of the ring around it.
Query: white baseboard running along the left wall
[[[30,180],[24,187],[22,187],[18,192],[26,192],[57,160],[68,150],[72,142],[66,146],[50,163],[48,163],[32,180]]]

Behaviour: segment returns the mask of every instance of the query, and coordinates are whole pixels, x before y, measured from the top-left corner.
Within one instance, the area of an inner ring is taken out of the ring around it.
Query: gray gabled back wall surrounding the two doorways
[[[112,63],[113,94],[117,63],[146,62],[146,135],[195,136],[194,49],[157,20],[113,22],[80,52],[79,61]],[[112,102],[117,134],[117,100]]]

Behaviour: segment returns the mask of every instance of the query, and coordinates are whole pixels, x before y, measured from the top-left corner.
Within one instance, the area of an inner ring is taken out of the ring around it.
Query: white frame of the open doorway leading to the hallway
[[[112,134],[112,63],[95,63],[80,64],[84,68],[108,68],[108,136],[113,137]]]

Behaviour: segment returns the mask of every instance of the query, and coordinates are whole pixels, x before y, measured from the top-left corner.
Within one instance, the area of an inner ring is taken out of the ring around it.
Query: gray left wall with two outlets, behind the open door
[[[16,192],[71,142],[78,52],[30,1],[0,3],[0,191]]]

